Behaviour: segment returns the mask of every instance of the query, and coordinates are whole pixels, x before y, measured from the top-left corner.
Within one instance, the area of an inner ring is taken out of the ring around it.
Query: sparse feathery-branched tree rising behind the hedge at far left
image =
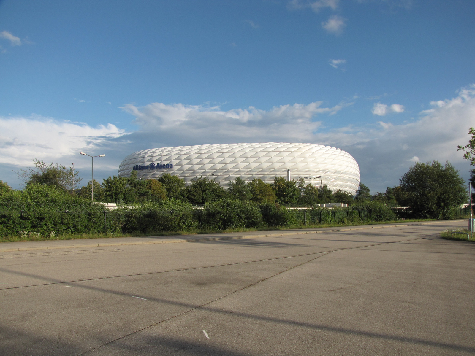
[[[53,162],[45,163],[38,159],[32,159],[32,161],[35,167],[27,167],[27,169],[20,169],[17,172],[17,175],[26,185],[47,185],[63,190],[71,190],[71,193],[73,193],[73,187],[82,179],[78,177],[79,172],[71,167],[67,168]]]

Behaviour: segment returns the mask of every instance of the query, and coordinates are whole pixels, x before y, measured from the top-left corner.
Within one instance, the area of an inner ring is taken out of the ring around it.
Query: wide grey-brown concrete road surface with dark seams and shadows
[[[0,355],[472,355],[465,225],[0,253]]]

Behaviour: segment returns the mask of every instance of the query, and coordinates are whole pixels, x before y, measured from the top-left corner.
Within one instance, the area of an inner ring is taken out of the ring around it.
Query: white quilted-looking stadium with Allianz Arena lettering
[[[222,187],[237,177],[272,183],[276,176],[286,177],[288,170],[291,179],[315,178],[315,186],[326,184],[332,190],[344,189],[352,194],[360,184],[358,163],[348,152],[311,143],[232,143],[142,150],[123,159],[119,177],[130,177],[132,170],[142,179],[170,173],[187,183],[210,176]],[[312,183],[311,179],[305,181]]]

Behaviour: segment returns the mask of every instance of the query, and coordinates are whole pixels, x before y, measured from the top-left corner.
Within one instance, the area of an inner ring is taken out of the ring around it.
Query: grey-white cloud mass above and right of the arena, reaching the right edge
[[[439,104],[433,104],[430,112],[421,112],[418,119],[409,123],[380,121],[332,130],[325,129],[328,117],[321,114],[331,115],[343,105],[329,108],[316,102],[282,105],[268,111],[254,107],[220,111],[218,107],[183,104],[151,103],[142,107],[129,104],[123,110],[136,117],[139,131],[128,136],[137,143],[124,149],[123,155],[152,147],[204,143],[318,143],[352,154],[360,165],[362,182],[375,192],[397,185],[416,157],[422,162],[450,160],[457,169],[462,169],[462,174],[468,172],[468,163],[456,147],[468,141],[467,130],[474,126],[475,85],[442,102],[444,105],[434,102]],[[386,105],[386,110],[402,109],[391,106]]]

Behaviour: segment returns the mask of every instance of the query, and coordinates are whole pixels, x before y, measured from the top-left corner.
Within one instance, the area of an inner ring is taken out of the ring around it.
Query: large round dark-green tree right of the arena
[[[445,166],[437,161],[416,163],[399,181],[406,193],[404,203],[418,218],[453,218],[467,199],[465,182],[448,161]]]

